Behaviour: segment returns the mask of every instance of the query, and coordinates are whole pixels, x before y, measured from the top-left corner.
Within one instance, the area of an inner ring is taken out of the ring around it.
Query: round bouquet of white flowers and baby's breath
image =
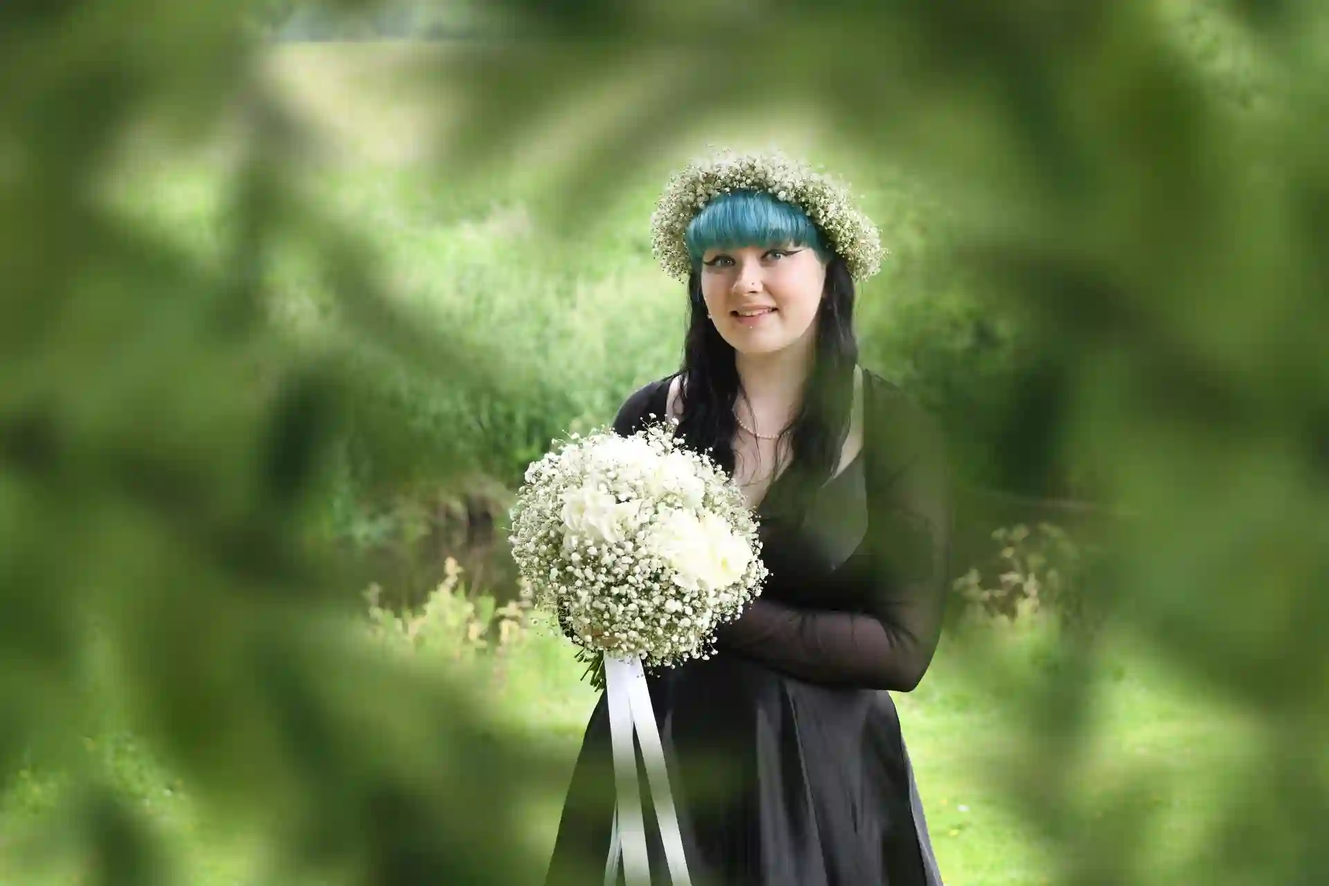
[[[767,575],[743,493],[666,422],[558,441],[526,469],[512,549],[598,688],[605,652],[646,667],[710,658]]]

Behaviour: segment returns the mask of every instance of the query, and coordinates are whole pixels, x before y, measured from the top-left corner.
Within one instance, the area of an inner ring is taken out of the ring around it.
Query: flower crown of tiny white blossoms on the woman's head
[[[712,199],[731,191],[768,191],[797,206],[844,256],[849,275],[867,280],[888,251],[872,221],[852,202],[848,187],[780,151],[736,154],[723,150],[692,161],[670,177],[651,215],[651,251],[664,272],[687,280],[692,259],[683,235],[688,222]]]

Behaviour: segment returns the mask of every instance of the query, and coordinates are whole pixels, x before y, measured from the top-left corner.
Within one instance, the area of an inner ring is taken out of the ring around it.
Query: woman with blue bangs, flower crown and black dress
[[[650,675],[696,886],[941,883],[894,704],[937,646],[948,472],[928,417],[857,367],[855,279],[876,230],[835,182],[780,155],[675,175],[654,218],[687,279],[682,371],[634,392],[730,472],[762,523],[764,591],[718,654]],[[614,782],[601,697],[549,886],[602,878]],[[643,792],[645,793],[645,792]],[[651,870],[667,882],[647,809]]]

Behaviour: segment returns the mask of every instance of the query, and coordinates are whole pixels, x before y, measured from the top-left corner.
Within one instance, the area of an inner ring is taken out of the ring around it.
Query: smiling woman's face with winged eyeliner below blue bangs
[[[707,250],[700,278],[711,323],[739,353],[772,353],[811,340],[827,279],[816,250]]]

